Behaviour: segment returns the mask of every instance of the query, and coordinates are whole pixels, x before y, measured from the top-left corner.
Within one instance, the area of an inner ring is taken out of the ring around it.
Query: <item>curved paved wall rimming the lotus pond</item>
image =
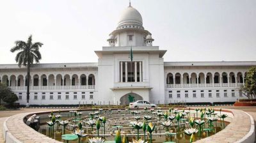
[[[218,109],[217,109],[218,110]],[[218,112],[218,111],[216,111]],[[241,110],[222,110],[221,113],[227,112],[231,114],[230,124],[220,132],[198,140],[196,142],[254,142],[255,141],[255,126],[252,116]],[[49,112],[29,112],[16,114],[8,117],[4,121],[3,133],[6,143],[21,143],[21,142],[59,142],[51,139],[39,132],[36,132],[27,126],[23,119],[32,114],[46,114]],[[233,115],[233,116],[232,116]]]

